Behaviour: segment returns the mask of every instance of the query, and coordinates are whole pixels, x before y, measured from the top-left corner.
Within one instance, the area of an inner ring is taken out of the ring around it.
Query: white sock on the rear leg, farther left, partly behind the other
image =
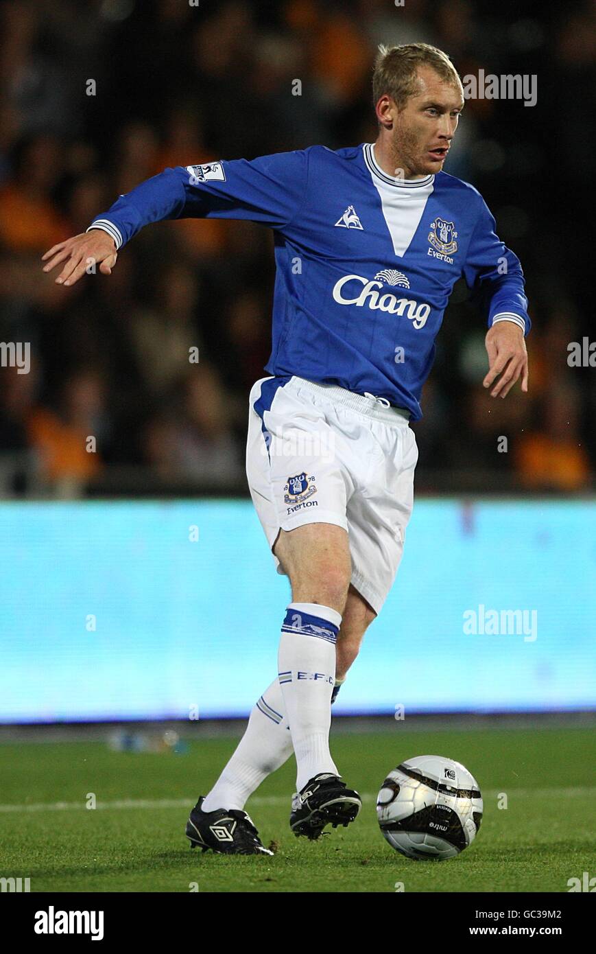
[[[283,698],[276,678],[253,706],[246,732],[203,801],[203,811],[243,809],[263,778],[292,755],[292,736],[283,713]]]

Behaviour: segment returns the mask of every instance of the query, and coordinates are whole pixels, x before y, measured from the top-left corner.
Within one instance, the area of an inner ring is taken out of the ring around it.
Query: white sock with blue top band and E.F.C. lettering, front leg
[[[339,775],[329,751],[331,693],[341,615],[319,603],[290,603],[281,627],[278,666],[298,768],[297,790],[320,772]]]

